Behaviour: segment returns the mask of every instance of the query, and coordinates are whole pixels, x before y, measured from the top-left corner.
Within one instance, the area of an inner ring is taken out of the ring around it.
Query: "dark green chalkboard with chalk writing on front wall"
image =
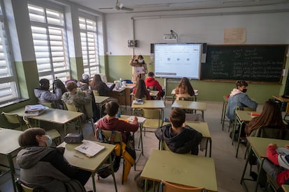
[[[208,45],[203,80],[282,81],[287,45]]]

